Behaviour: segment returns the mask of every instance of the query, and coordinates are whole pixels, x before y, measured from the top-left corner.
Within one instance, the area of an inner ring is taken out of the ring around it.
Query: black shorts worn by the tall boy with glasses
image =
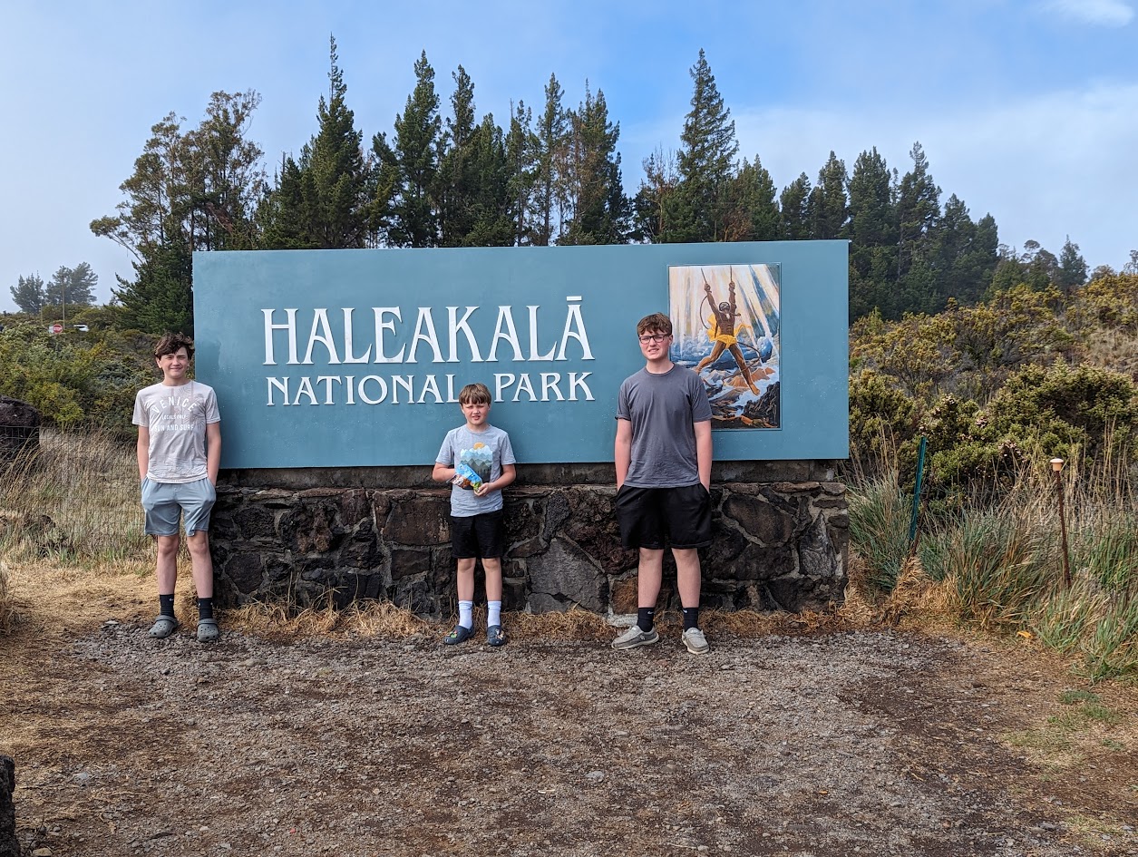
[[[622,485],[617,521],[624,547],[704,547],[711,544],[711,495],[700,483],[682,488]]]

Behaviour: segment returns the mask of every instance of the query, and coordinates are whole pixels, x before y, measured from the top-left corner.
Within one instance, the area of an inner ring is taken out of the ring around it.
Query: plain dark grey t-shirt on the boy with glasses
[[[633,451],[625,485],[678,488],[698,485],[693,423],[711,419],[703,381],[691,369],[674,365],[662,374],[642,369],[625,379],[617,419],[633,425]]]

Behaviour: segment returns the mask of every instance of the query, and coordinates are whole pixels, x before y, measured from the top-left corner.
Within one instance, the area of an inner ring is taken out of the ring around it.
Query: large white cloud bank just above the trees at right
[[[849,171],[876,146],[902,174],[920,141],[943,191],[973,219],[990,213],[1000,240],[1034,239],[1058,253],[1067,234],[1091,267],[1119,267],[1138,248],[1138,83],[1096,84],[1017,101],[922,114],[778,109],[735,113],[741,155],[758,153],[781,189],[833,149]]]

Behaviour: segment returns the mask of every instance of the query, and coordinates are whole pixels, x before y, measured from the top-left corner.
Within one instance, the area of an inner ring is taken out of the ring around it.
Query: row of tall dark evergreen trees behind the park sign
[[[424,51],[391,127],[365,137],[349,105],[366,96],[349,91],[332,38],[313,134],[278,163],[249,137],[253,91],[213,93],[197,126],[175,114],[154,125],[115,213],[91,223],[134,257],[133,278],[114,289],[122,323],[192,330],[190,257],[209,249],[848,239],[851,321],[971,305],[1019,282],[1069,294],[1087,281],[1070,239],[1058,256],[1001,245],[990,214],[946,198],[920,142],[904,165],[876,148],[851,165],[832,151],[780,189],[761,153],[740,151],[702,50],[690,74],[678,148],[646,153],[628,188],[620,123],[587,81],[572,105],[552,74],[544,104],[519,100],[495,117],[479,112],[462,66],[440,86]],[[18,288],[22,308],[39,305],[34,287]]]

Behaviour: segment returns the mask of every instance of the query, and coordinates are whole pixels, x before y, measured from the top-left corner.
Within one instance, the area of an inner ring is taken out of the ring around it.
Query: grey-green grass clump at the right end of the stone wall
[[[887,593],[909,553],[910,511],[896,470],[866,479],[849,494],[850,543],[868,566],[867,583]]]

